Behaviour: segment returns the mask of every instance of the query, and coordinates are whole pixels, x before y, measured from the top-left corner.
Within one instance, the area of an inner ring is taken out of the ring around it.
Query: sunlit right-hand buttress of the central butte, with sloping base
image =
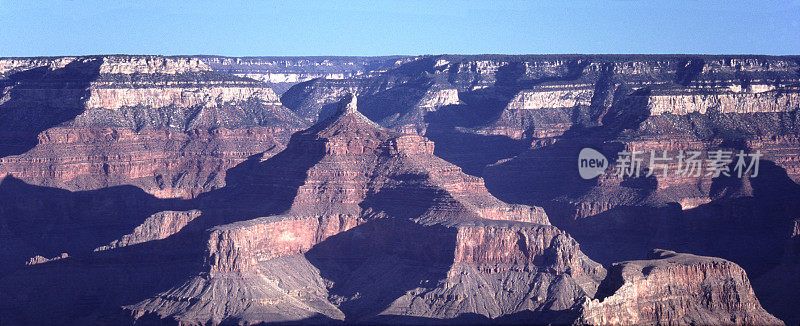
[[[552,226],[476,221],[457,230],[447,277],[409,290],[382,314],[446,320],[554,311],[566,317],[575,302],[594,296],[606,273]]]

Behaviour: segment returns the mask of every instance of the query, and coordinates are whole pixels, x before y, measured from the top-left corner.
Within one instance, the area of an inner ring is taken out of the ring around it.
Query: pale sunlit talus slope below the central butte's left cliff
[[[194,277],[126,308],[140,323],[320,323],[343,319],[328,302],[325,285],[316,267],[302,256],[289,256],[272,260],[258,273]]]

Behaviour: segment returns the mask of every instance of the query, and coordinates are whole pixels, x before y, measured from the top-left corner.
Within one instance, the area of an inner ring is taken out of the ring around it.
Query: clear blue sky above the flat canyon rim
[[[0,56],[800,54],[800,1],[0,0]]]

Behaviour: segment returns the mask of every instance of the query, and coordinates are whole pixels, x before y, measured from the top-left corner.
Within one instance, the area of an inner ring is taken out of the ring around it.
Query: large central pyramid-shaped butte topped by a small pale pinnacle
[[[384,129],[358,112],[354,98],[345,100],[335,116],[298,132],[286,150],[265,162],[279,164],[268,172],[274,178],[252,181],[258,189],[281,187],[273,182],[299,184],[295,195],[287,197],[284,213],[210,229],[206,270],[200,276],[127,309],[136,318],[200,323],[224,318],[242,323],[289,316],[297,320],[314,313],[353,321],[396,314],[446,319],[474,313],[495,318],[526,309],[566,310],[594,293],[605,270],[583,255],[568,235],[550,226],[541,208],[495,199],[479,178],[464,175],[433,151],[430,141]],[[304,172],[287,170],[301,166],[307,166]],[[292,294],[293,285],[251,281],[286,261],[307,261],[314,267],[304,268],[299,273],[306,276],[296,281],[305,289],[301,292],[313,295]],[[379,263],[353,263],[360,261]],[[394,263],[386,265],[389,261]],[[426,267],[409,275],[394,274],[411,266]],[[462,273],[467,270],[475,272],[469,284],[464,279],[468,273]],[[399,283],[362,279],[382,273],[397,277]],[[409,287],[417,277],[442,280]],[[492,287],[501,287],[504,282],[497,280],[502,279],[527,283],[495,293],[477,286],[481,279],[496,279]],[[531,282],[538,292],[523,285]],[[456,291],[458,296],[479,297],[469,303],[432,301],[452,296],[446,284],[463,287]],[[221,287],[241,295],[214,296]],[[275,287],[291,299],[275,294],[263,298],[266,288]],[[499,298],[490,296],[500,293]],[[538,301],[528,304],[536,295]],[[495,300],[500,303],[492,303]],[[284,306],[289,302],[304,308]],[[431,305],[421,306],[423,302]],[[481,308],[487,305],[494,306]],[[280,307],[285,310],[273,316]]]

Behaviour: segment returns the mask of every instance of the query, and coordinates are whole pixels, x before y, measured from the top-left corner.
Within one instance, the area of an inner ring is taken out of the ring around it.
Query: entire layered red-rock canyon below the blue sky
[[[0,323],[796,324],[798,109],[793,56],[0,58]]]

